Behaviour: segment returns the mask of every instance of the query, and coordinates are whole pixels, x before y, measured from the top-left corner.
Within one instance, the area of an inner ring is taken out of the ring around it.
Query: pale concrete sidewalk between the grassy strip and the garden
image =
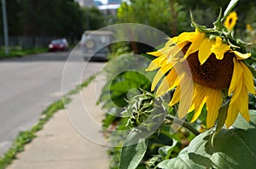
[[[100,87],[102,81],[90,82],[81,93],[73,95],[67,110],[56,112],[8,169],[108,169],[108,147],[101,145],[107,142],[101,132],[104,113],[96,106]],[[79,116],[84,109],[90,119]],[[97,127],[91,127],[91,122]]]

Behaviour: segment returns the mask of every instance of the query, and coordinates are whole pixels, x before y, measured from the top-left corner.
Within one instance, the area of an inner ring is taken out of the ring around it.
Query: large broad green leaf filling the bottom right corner
[[[256,166],[256,111],[250,110],[251,121],[237,117],[233,128],[222,129],[210,141],[212,130],[195,137],[188,147],[189,160],[206,168],[254,168]]]

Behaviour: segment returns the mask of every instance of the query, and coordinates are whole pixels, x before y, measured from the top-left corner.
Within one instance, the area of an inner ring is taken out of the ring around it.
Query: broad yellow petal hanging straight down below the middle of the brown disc
[[[218,109],[222,104],[222,91],[206,87],[207,97],[207,127],[214,126],[218,117]]]

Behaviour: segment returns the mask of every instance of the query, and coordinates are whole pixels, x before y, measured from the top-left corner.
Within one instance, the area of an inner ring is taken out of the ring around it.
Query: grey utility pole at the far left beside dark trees
[[[8,23],[7,23],[5,0],[2,0],[2,11],[3,11],[3,36],[4,36],[5,54],[9,54]]]

